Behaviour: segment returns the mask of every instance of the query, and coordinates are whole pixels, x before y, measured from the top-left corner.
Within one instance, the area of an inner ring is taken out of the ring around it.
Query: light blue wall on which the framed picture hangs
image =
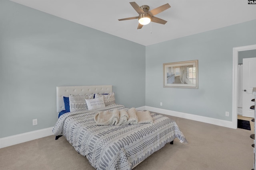
[[[253,20],[147,46],[146,106],[232,121],[232,50],[256,44],[255,28]],[[163,63],[190,60],[198,89],[163,88]]]

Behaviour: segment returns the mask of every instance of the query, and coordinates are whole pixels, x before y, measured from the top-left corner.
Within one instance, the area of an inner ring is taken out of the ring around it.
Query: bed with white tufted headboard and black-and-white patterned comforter
[[[72,95],[89,96],[87,103],[95,98],[104,99],[105,107],[84,109],[80,105],[65,111],[68,105],[64,98],[69,97],[72,104]],[[56,137],[63,135],[97,170],[131,170],[167,143],[172,144],[175,138],[188,143],[172,119],[152,112],[151,123],[98,125],[95,117],[99,113],[131,109],[115,103],[111,85],[57,87],[56,103],[57,113],[62,114],[52,132]]]

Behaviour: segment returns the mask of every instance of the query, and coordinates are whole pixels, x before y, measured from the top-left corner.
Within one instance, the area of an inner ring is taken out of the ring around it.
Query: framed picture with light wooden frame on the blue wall
[[[164,87],[198,88],[198,60],[164,63]]]

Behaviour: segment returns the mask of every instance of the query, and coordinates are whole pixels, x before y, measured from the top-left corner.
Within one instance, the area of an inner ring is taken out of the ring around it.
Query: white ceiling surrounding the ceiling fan
[[[168,21],[137,29],[133,0],[11,0],[24,6],[142,44],[151,45],[236,23],[256,19],[256,4],[247,0],[136,0],[150,10],[169,3],[171,8],[156,15]]]

